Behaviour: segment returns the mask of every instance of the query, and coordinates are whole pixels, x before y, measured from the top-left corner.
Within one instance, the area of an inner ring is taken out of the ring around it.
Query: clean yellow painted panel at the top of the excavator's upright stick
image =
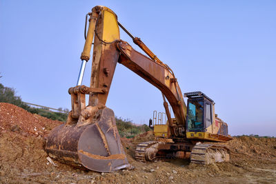
[[[120,39],[119,27],[115,14],[103,11],[103,41],[111,42]]]

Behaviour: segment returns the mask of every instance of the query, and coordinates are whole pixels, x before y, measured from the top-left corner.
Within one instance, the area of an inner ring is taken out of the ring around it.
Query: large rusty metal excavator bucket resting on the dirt
[[[103,108],[92,123],[55,127],[46,139],[52,159],[97,172],[113,172],[130,167],[115,123],[114,112]]]

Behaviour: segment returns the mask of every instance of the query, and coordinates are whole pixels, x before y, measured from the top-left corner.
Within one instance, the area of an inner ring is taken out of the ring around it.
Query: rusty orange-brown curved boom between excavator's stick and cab
[[[158,88],[168,99],[177,122],[185,125],[186,104],[175,76],[164,65],[137,52],[128,43],[117,43],[117,47],[121,51],[118,62]]]

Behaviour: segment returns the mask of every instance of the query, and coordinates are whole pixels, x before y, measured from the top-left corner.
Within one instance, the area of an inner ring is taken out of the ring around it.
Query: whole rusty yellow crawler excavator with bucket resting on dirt
[[[217,143],[232,138],[227,123],[215,114],[212,99],[202,92],[188,92],[184,94],[188,97],[186,106],[172,70],[134,37],[109,8],[95,6],[86,14],[86,25],[87,21],[79,78],[77,85],[68,90],[72,110],[66,123],[55,127],[46,138],[45,150],[52,159],[97,172],[132,168],[121,145],[115,113],[106,107],[113,74],[120,63],[161,91],[168,119],[163,124],[156,117],[150,121],[156,139],[137,145],[137,161],[190,158],[191,163],[209,164],[230,160],[228,148]],[[147,56],[120,39],[119,27]],[[87,87],[81,83],[92,45],[92,72]]]

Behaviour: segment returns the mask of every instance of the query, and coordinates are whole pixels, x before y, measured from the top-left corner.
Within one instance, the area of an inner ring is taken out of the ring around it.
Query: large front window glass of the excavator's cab
[[[188,101],[187,129],[204,129],[204,101]]]

